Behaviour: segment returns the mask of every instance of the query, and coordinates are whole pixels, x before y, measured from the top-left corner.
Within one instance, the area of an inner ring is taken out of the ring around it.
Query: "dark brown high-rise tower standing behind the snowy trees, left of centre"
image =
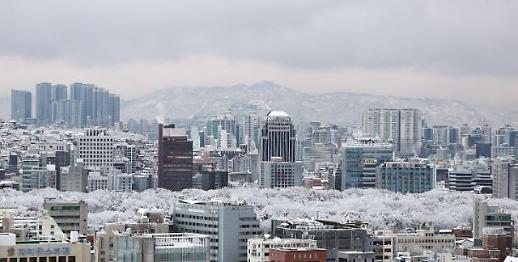
[[[158,187],[181,191],[192,187],[192,141],[174,124],[158,126]]]

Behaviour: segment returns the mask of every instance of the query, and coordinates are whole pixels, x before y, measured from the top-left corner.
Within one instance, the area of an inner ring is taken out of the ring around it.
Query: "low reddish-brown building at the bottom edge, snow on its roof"
[[[270,262],[326,262],[326,250],[306,248],[270,249]]]

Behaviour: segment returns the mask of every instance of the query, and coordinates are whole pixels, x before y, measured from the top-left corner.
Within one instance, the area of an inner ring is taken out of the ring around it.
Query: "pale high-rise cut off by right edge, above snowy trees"
[[[518,161],[497,158],[493,161],[493,195],[498,198],[518,200]]]

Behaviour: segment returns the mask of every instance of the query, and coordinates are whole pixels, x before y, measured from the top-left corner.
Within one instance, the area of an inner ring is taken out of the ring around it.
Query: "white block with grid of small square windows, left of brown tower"
[[[113,166],[113,137],[103,128],[89,128],[77,139],[77,158],[85,167]]]

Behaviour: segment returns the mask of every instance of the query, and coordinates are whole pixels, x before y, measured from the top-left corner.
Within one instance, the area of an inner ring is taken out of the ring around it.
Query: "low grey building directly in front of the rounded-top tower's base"
[[[283,162],[280,157],[261,162],[259,185],[263,188],[302,186],[302,162]]]

